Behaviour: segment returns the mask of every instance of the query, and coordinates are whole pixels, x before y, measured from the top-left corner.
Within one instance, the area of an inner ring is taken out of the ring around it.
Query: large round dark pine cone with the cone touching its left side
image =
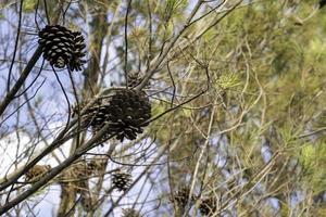
[[[116,135],[116,139],[121,141],[124,138],[134,140],[137,133],[143,131],[142,127],[148,126],[146,122],[151,117],[151,104],[143,92],[121,89],[109,100],[96,103],[86,114],[93,131],[102,129],[105,123],[110,123],[104,140],[112,135]]]

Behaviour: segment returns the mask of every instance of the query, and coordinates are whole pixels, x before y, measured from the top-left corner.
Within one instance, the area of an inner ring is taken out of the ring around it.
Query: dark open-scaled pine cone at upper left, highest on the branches
[[[66,65],[73,71],[80,71],[86,55],[84,38],[79,31],[71,31],[63,26],[47,25],[39,31],[39,44],[42,46],[43,58],[58,68]]]

